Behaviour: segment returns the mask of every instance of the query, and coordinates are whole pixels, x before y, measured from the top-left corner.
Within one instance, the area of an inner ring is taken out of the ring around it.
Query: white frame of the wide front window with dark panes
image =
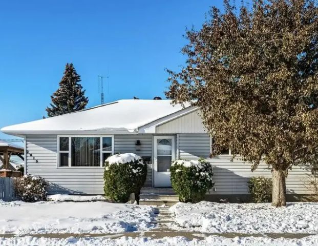
[[[59,150],[59,138],[60,137],[68,137],[69,138],[69,150]],[[99,167],[93,167],[93,166],[89,166],[89,167],[76,167],[76,166],[72,166],[72,137],[99,137],[99,143],[100,143],[100,165]],[[111,151],[103,151],[102,150],[102,138],[103,137],[111,137],[112,138],[112,150]],[[60,153],[69,153],[69,166],[64,166],[64,167],[60,167]],[[86,168],[103,168],[103,163],[102,163],[102,157],[103,157],[103,153],[111,153],[111,155],[114,154],[114,135],[57,135],[57,168],[61,168],[61,169],[65,169],[65,168],[82,168],[82,169],[86,169]]]

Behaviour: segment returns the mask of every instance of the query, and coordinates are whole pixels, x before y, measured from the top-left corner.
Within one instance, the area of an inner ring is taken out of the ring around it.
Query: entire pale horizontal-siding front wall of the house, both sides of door
[[[167,134],[168,135],[168,134]],[[171,135],[171,134],[170,134]],[[152,156],[153,135],[115,135],[114,152],[133,152],[140,156]],[[255,172],[250,165],[231,156],[221,155],[209,158],[210,139],[207,134],[180,133],[176,137],[177,156],[180,159],[206,158],[214,165],[215,187],[213,195],[248,194],[247,181],[252,176],[271,177],[270,171],[263,163]],[[136,140],[140,140],[140,151],[136,151]],[[57,136],[28,135],[26,137],[27,173],[39,175],[50,181],[49,193],[103,194],[103,168],[57,168]],[[32,156],[30,155],[32,154]],[[33,159],[34,157],[34,159]],[[38,160],[38,162],[36,162]],[[148,175],[145,186],[152,186],[152,161],[148,164]],[[308,167],[294,167],[286,180],[287,193],[310,194],[305,187],[311,176]]]

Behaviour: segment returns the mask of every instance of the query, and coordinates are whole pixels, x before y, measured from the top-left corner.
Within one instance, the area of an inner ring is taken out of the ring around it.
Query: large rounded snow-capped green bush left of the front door
[[[105,160],[105,196],[116,202],[127,202],[135,193],[139,202],[140,189],[147,176],[147,165],[133,153],[112,155]]]

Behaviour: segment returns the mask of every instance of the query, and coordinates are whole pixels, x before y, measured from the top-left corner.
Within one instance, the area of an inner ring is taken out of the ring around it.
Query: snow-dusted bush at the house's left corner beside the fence
[[[24,175],[14,180],[16,198],[26,202],[46,200],[47,187],[48,183],[44,178],[32,175]]]

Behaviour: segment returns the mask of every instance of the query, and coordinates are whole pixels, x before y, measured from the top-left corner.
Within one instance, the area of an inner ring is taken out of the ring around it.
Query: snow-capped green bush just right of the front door
[[[204,159],[176,160],[172,163],[171,183],[179,201],[198,202],[214,186],[213,167]]]

